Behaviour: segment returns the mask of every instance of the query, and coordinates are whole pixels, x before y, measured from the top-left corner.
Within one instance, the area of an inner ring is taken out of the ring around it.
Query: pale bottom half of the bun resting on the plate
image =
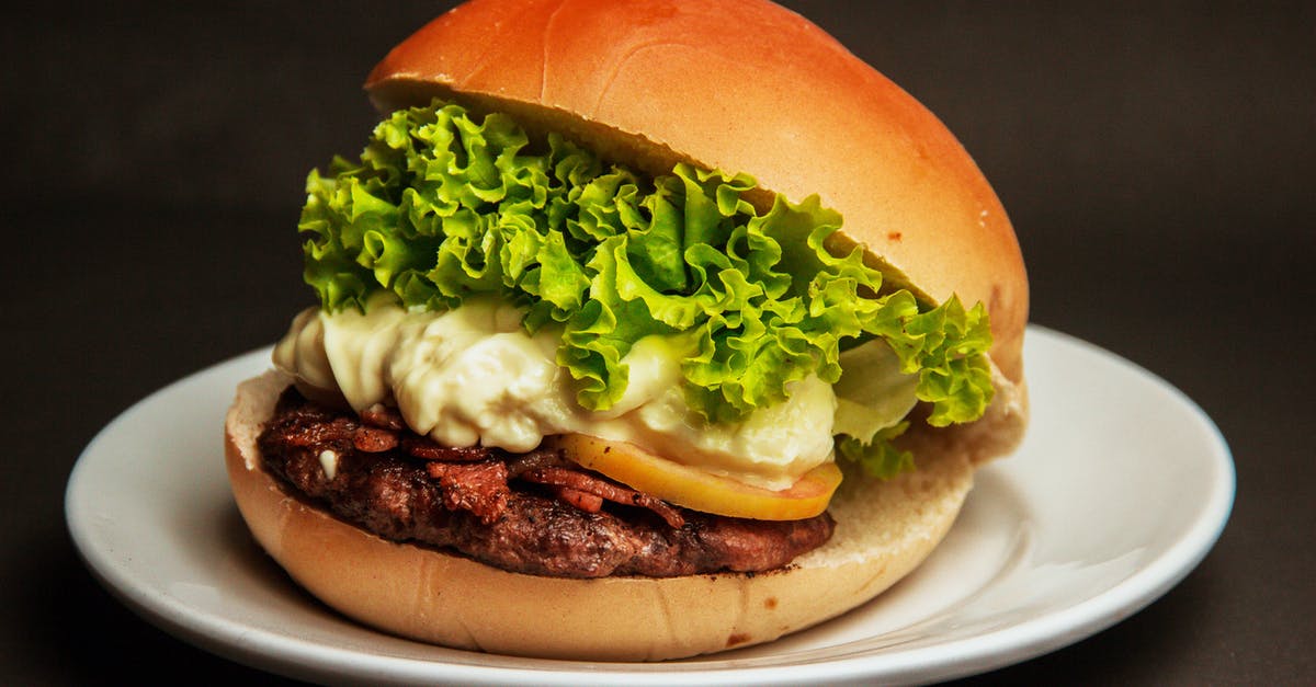
[[[888,482],[848,479],[836,534],[784,570],[563,579],[386,541],[290,496],[257,436],[290,379],[243,382],[225,424],[233,495],[257,541],[325,604],[415,640],[499,654],[657,661],[775,640],[858,607],[913,570],[973,484],[965,455],[920,457]]]

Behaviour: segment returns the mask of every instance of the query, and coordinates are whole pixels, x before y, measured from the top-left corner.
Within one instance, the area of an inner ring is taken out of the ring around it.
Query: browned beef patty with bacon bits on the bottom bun
[[[758,572],[821,546],[834,529],[826,513],[766,521],[674,507],[557,450],[440,446],[391,408],[358,417],[295,387],[259,447],[266,470],[293,494],[353,525],[532,575]]]

